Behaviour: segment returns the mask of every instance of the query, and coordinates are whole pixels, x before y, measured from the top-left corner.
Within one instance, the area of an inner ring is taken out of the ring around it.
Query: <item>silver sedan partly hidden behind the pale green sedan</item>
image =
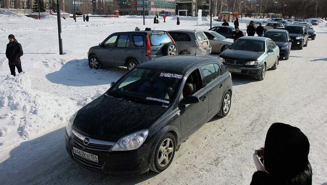
[[[226,38],[215,31],[203,31],[208,37],[211,46],[211,52],[222,52],[234,42],[233,39]]]

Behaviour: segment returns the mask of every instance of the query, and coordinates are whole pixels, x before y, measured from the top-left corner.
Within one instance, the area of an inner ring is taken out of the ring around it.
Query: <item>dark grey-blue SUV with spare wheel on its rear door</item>
[[[89,49],[89,66],[135,66],[165,55],[178,53],[177,45],[166,31],[117,32]]]

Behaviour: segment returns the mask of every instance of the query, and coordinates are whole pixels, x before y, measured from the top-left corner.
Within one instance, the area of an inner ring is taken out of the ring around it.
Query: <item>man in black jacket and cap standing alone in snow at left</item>
[[[21,56],[23,56],[23,49],[22,45],[18,43],[18,41],[15,39],[15,36],[13,34],[10,34],[8,36],[9,43],[7,44],[6,48],[6,57],[9,61],[9,68],[11,74],[15,77],[15,67],[18,70],[18,73],[23,72],[22,70],[22,63],[21,63]]]

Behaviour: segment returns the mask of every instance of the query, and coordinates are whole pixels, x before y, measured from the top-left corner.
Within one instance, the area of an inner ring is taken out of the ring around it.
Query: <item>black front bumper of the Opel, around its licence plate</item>
[[[73,136],[68,137],[65,131],[66,151],[77,164],[99,173],[111,175],[140,175],[149,170],[151,156],[150,144],[143,144],[140,148],[132,151],[96,151],[81,147],[77,144]],[[75,155],[73,147],[79,150],[98,156],[99,162],[89,161]]]

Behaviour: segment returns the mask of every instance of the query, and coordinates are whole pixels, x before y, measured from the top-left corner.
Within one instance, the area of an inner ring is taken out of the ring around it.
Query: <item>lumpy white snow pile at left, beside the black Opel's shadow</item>
[[[63,127],[77,109],[67,97],[33,90],[26,72],[16,77],[0,74],[0,81],[0,146]]]

